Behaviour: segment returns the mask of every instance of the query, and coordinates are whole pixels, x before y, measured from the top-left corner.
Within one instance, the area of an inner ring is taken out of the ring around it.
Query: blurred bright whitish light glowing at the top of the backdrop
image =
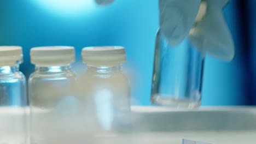
[[[94,0],[32,0],[39,7],[62,16],[85,15],[95,6]]]

